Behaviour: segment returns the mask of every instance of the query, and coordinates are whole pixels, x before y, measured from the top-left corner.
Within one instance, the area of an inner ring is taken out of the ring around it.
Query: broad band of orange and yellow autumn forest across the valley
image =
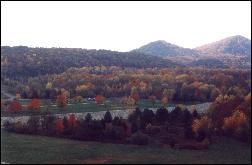
[[[32,98],[55,99],[61,89],[71,97],[124,97],[135,91],[140,98],[167,95],[175,101],[214,101],[220,94],[244,97],[251,91],[251,71],[203,68],[122,68],[94,66],[69,68],[60,74],[46,74],[14,81],[2,78],[11,93]]]

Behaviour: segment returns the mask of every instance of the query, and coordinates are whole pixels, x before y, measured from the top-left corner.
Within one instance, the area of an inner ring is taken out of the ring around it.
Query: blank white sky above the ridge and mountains
[[[1,2],[1,43],[129,51],[251,39],[251,2]]]

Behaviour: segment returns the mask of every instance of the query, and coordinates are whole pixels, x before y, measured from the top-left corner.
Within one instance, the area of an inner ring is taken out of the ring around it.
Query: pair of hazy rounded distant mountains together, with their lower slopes
[[[202,64],[217,67],[223,63],[223,67],[251,67],[251,40],[241,35],[227,37],[194,49],[183,48],[164,40],[158,40],[132,51],[193,66]]]

